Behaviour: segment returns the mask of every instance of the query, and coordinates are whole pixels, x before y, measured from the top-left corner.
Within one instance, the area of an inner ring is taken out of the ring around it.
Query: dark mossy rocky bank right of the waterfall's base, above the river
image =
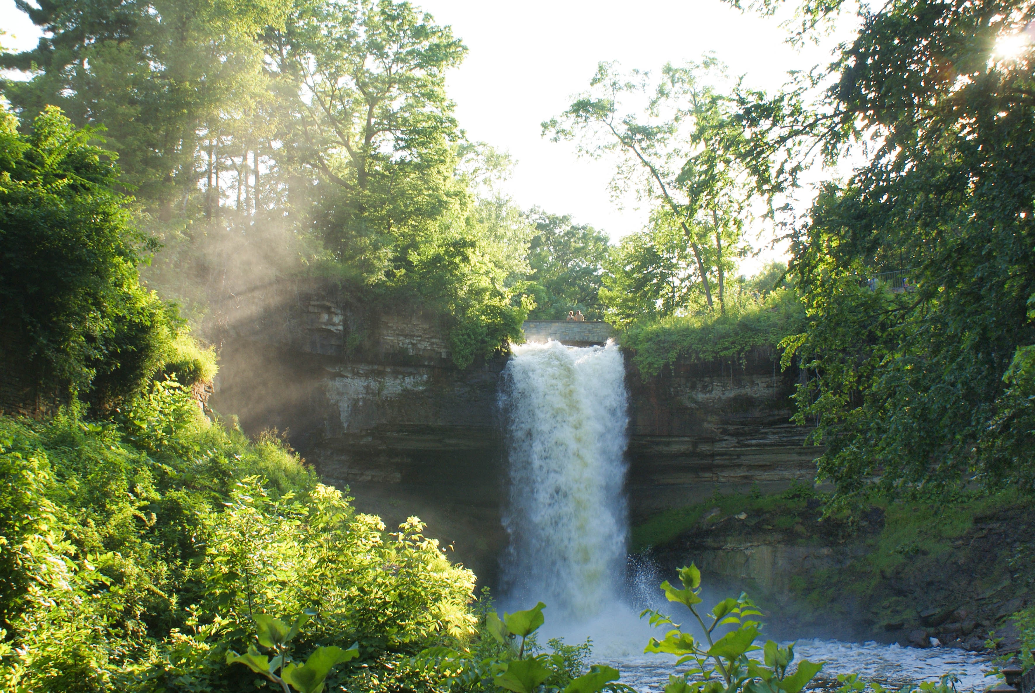
[[[804,487],[718,497],[655,516],[633,538],[662,571],[693,560],[728,588],[748,590],[781,637],[1019,647],[1010,616],[1035,595],[1035,513],[1022,500],[823,510]]]

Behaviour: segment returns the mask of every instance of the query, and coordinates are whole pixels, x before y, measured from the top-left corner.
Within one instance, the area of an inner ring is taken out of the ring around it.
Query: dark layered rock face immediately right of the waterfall
[[[797,371],[775,354],[743,363],[677,363],[643,378],[627,363],[633,518],[699,502],[713,493],[786,488],[815,475],[819,451],[790,422]]]

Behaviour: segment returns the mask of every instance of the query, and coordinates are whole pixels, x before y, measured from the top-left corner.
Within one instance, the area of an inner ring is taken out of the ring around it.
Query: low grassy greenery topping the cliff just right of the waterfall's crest
[[[766,296],[742,291],[727,305],[726,315],[707,313],[633,323],[622,334],[622,346],[633,353],[644,377],[654,376],[676,360],[743,363],[757,348],[777,345],[805,324],[805,312],[793,289]]]

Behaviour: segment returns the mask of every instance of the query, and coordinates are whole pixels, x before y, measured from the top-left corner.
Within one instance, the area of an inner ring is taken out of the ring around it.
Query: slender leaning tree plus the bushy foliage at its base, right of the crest
[[[658,79],[599,63],[590,90],[542,123],[554,141],[576,140],[585,155],[617,154],[613,186],[631,182],[654,206],[654,228],[630,238],[612,260],[616,281],[604,300],[620,320],[635,315],[635,301],[623,299],[629,289],[642,294],[638,302],[647,313],[668,301],[671,314],[686,308],[677,289],[697,294],[711,310],[714,286],[724,312],[726,277],[745,252],[742,236],[753,203],[768,205],[771,215],[776,197],[792,186],[781,156],[772,150],[756,155],[739,92],[711,55],[700,63],[667,64]],[[640,113],[628,112],[629,102]],[[638,277],[644,270],[648,277]]]

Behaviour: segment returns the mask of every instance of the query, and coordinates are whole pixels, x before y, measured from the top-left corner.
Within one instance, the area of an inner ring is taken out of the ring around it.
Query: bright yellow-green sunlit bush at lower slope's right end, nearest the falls
[[[386,536],[378,517],[356,514],[336,489],[273,498],[249,478],[206,519],[205,603],[237,630],[259,611],[305,609],[324,614],[308,637],[329,644],[383,649],[471,630],[474,576],[452,566],[416,518]]]

